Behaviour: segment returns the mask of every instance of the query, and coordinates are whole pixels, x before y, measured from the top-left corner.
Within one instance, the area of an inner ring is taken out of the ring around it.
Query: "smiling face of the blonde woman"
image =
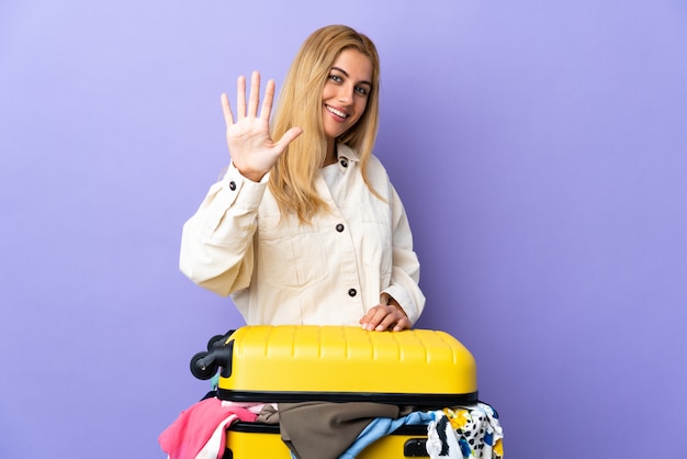
[[[344,49],[334,61],[323,93],[323,124],[328,141],[351,128],[365,111],[372,89],[372,61],[357,49]]]

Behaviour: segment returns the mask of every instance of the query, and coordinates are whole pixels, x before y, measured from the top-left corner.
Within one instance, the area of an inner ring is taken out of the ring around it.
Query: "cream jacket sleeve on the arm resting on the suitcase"
[[[393,261],[391,284],[382,293],[396,300],[415,324],[425,309],[425,295],[418,284],[420,264],[413,249],[413,234],[403,203],[391,183],[390,187]]]

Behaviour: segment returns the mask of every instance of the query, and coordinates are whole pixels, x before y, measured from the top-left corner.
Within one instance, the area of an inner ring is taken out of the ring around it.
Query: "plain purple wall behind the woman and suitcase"
[[[241,324],[177,268],[218,94],[328,23],[380,48],[418,326],[473,351],[507,455],[684,457],[687,9],[552,3],[4,0],[0,457],[164,457]]]

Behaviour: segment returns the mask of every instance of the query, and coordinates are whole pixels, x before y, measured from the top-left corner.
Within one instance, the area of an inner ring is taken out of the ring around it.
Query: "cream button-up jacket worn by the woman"
[[[379,159],[368,178],[384,200],[363,182],[357,153],[338,153],[331,190],[322,175],[316,182],[331,212],[311,225],[281,215],[267,176],[252,182],[230,165],[183,226],[182,272],[232,294],[248,325],[359,325],[386,295],[415,323],[425,296],[403,204]]]

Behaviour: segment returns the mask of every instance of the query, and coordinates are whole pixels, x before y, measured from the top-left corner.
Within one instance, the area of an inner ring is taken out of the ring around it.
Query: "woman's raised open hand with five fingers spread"
[[[232,113],[229,98],[226,93],[222,93],[221,97],[232,163],[244,177],[254,181],[260,181],[284,153],[289,144],[303,132],[300,127],[292,127],[278,142],[272,139],[270,114],[273,100],[274,80],[269,80],[258,114],[258,107],[260,105],[260,74],[258,71],[254,71],[250,77],[248,107],[246,107],[246,78],[238,77],[236,83],[236,120]]]

